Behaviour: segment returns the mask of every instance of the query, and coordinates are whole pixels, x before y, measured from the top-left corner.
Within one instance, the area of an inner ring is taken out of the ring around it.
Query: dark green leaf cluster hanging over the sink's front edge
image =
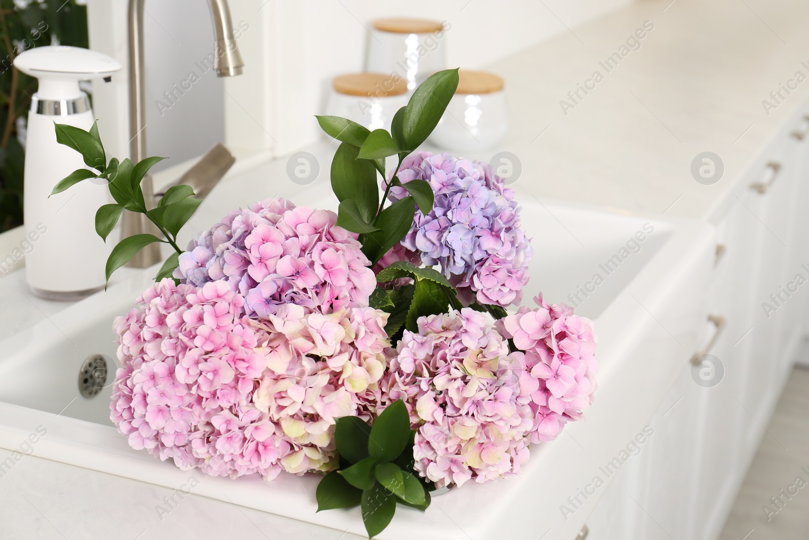
[[[317,486],[317,511],[360,505],[368,538],[388,526],[396,503],[424,511],[430,483],[413,474],[413,437],[404,402],[388,406],[373,426],[356,416],[337,419],[334,442],[341,467]]]

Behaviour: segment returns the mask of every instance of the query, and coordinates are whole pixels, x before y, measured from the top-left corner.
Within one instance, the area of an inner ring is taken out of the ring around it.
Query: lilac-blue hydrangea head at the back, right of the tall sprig
[[[528,282],[530,241],[519,227],[514,191],[481,162],[449,154],[414,152],[399,172],[404,184],[430,183],[435,204],[428,215],[416,210],[413,227],[401,241],[426,265],[440,265],[464,304],[519,304]],[[394,186],[394,201],[408,195]]]

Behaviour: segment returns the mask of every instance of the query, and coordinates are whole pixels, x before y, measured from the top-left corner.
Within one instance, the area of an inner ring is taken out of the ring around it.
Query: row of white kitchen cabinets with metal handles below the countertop
[[[650,419],[650,443],[587,519],[589,540],[721,533],[807,334],[807,132],[809,117],[796,115],[711,216],[718,249],[709,313],[721,328],[706,323],[706,343],[720,334],[704,352],[721,363],[721,380],[698,384],[704,366],[684,364]]]

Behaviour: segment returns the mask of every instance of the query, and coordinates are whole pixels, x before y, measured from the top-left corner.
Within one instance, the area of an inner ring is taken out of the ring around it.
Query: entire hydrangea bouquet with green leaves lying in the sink
[[[121,240],[108,278],[147,244],[175,249],[114,322],[111,418],[133,449],[231,478],[323,474],[319,509],[360,504],[371,537],[397,503],[424,510],[435,489],[517,474],[531,444],[582,419],[595,334],[541,295],[519,306],[532,247],[515,193],[488,164],[416,151],[457,84],[457,70],[432,75],[390,132],[318,117],[341,142],[336,214],[268,199],[185,250],[193,189],[146,210],[139,184],[160,158],[107,162],[95,126],[57,125],[95,171],[54,193],[103,179],[116,203],[100,236],[125,208],[163,234]]]

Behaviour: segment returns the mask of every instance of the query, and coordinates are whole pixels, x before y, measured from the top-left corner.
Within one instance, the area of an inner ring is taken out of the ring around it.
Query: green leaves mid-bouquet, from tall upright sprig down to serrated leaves
[[[341,117],[317,117],[320,127],[341,141],[332,160],[332,189],[340,207],[337,225],[359,235],[362,253],[374,266],[398,244],[413,225],[416,208],[423,215],[433,208],[433,189],[427,181],[411,180],[402,184],[397,176],[404,158],[426,140],[438,125],[455,90],[458,70],[443,70],[430,75],[413,92],[407,105],[394,115],[391,131],[367,130]],[[385,158],[396,155],[398,164],[391,181],[385,177]],[[376,174],[385,183],[379,200]],[[385,207],[392,186],[407,190],[408,196]],[[442,274],[419,268],[409,262],[397,262],[379,273],[379,283],[410,278],[405,287],[377,287],[371,295],[371,307],[390,313],[385,330],[393,342],[402,332],[417,331],[418,317],[444,313],[448,307],[460,308],[457,291]]]

